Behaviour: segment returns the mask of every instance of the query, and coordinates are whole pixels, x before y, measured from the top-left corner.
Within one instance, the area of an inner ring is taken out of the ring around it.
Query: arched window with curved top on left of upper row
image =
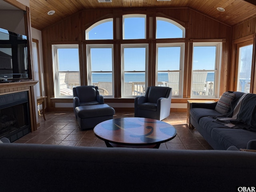
[[[113,39],[113,18],[101,20],[85,31],[86,40]]]

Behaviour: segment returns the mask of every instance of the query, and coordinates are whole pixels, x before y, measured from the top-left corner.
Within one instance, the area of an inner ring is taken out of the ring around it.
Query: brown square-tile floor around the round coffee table
[[[93,130],[81,131],[74,112],[47,112],[39,116],[40,128],[15,143],[54,144],[66,146],[106,147],[105,143],[94,136]],[[134,117],[133,113],[116,112],[114,118]],[[196,130],[189,130],[186,113],[171,113],[163,120],[172,124],[177,135],[173,140],[160,145],[160,149],[210,150],[212,147]]]

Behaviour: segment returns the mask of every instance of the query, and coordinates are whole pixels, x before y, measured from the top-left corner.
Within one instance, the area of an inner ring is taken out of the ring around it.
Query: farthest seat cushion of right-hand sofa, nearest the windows
[[[207,116],[218,116],[221,113],[217,112],[214,109],[206,109],[206,108],[191,108],[190,115],[199,122],[200,118],[207,117]]]

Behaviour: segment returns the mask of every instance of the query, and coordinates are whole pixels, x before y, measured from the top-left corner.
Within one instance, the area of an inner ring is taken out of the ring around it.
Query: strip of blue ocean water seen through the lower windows
[[[125,82],[144,82],[145,81],[145,74],[141,73],[129,73],[125,74]],[[208,72],[206,81],[208,82],[214,82],[214,73]],[[104,74],[98,74],[94,73],[92,74],[92,82],[112,82],[112,74],[104,73]],[[159,73],[158,74],[158,82],[168,82],[168,74],[167,73]]]

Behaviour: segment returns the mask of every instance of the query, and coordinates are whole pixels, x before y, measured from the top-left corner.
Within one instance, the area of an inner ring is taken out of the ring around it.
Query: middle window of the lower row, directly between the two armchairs
[[[144,95],[148,86],[148,45],[126,44],[122,50],[122,97]]]

